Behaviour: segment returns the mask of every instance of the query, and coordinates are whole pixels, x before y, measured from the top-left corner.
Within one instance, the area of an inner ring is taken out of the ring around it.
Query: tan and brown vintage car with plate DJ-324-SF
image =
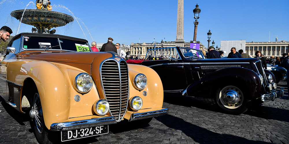
[[[153,69],[127,64],[114,52],[92,52],[85,39],[18,34],[0,76],[0,95],[29,112],[39,143],[105,134],[109,124],[143,125],[168,113]]]

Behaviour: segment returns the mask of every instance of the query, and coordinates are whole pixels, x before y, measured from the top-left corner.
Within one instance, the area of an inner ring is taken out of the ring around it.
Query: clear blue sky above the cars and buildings
[[[10,16],[13,10],[25,9],[29,0],[0,0],[0,26],[9,26],[16,35],[19,20]],[[51,0],[53,11],[74,16],[74,22],[56,29],[56,34],[87,39],[89,43],[129,45],[175,41],[177,28],[177,0]],[[211,30],[211,43],[220,47],[223,40],[289,41],[288,0],[184,0],[184,40],[193,40],[193,9],[201,9],[198,20],[197,41],[208,46],[207,33]],[[27,9],[36,9],[33,0]],[[79,26],[80,25],[80,26]],[[33,26],[20,24],[18,33],[31,32]],[[82,30],[81,30],[82,28]]]

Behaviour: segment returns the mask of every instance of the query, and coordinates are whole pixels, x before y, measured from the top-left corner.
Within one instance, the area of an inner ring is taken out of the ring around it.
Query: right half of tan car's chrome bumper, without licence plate
[[[149,112],[144,112],[144,113],[133,113],[133,114],[131,114],[128,121],[130,122],[130,121],[134,121],[134,120],[141,120],[141,119],[146,119],[146,118],[157,117],[157,116],[165,115],[167,113],[168,113],[168,109],[161,109],[158,111],[149,111]]]

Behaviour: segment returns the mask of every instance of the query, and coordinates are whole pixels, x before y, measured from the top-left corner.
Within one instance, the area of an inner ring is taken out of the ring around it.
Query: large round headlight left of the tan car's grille
[[[86,93],[92,88],[92,77],[87,73],[79,73],[74,79],[74,86],[78,92]]]

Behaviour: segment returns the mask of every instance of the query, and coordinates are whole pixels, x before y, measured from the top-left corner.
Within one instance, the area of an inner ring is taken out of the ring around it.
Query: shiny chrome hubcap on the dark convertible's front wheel
[[[226,86],[220,92],[221,104],[229,109],[236,109],[243,103],[243,93],[236,86]]]

